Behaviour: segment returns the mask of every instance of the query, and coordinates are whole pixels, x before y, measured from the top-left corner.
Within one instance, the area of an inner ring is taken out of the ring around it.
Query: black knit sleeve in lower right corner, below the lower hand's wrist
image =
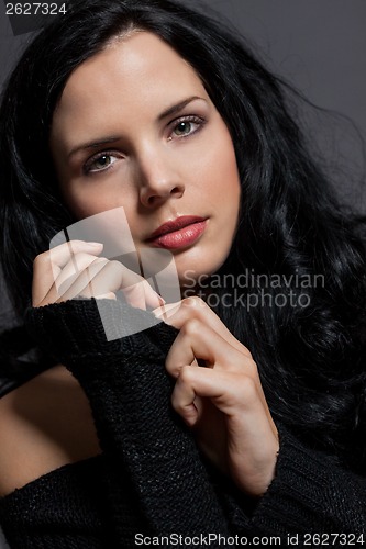
[[[236,528],[276,533],[300,546],[365,546],[366,479],[334,456],[307,447],[284,426],[278,432],[276,474],[251,518],[232,498]]]

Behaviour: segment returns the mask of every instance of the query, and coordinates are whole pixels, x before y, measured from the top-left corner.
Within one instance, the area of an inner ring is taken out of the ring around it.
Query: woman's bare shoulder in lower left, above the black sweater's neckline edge
[[[64,366],[0,399],[0,496],[97,453],[89,402]]]

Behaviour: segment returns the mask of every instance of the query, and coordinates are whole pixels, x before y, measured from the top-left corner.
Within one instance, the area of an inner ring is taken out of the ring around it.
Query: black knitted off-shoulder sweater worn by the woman
[[[0,498],[11,548],[222,548],[269,537],[287,545],[288,536],[319,547],[313,534],[333,547],[366,544],[365,479],[279,425],[276,475],[254,502],[202,458],[170,406],[164,365],[177,330],[148,312],[98,303],[111,326],[133,315],[134,326],[151,327],[107,341],[95,300],[26,312],[35,340],[86,392],[102,453]]]

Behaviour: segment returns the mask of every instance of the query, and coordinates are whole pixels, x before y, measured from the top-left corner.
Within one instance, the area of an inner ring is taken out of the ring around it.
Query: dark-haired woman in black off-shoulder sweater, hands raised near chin
[[[0,401],[10,545],[362,545],[362,225],[277,80],[174,1],[82,1],[1,121],[3,269],[42,350]],[[121,208],[137,251],[173,255],[180,306],[129,291],[103,243],[49,250]],[[149,328],[108,340],[100,313]]]

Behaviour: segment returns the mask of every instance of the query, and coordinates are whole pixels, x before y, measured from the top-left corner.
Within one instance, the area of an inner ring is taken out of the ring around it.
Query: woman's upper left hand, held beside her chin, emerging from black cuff
[[[77,296],[115,300],[118,290],[132,306],[162,305],[162,298],[146,280],[121,262],[100,257],[102,249],[99,243],[70,240],[40,254],[33,264],[33,306]]]

